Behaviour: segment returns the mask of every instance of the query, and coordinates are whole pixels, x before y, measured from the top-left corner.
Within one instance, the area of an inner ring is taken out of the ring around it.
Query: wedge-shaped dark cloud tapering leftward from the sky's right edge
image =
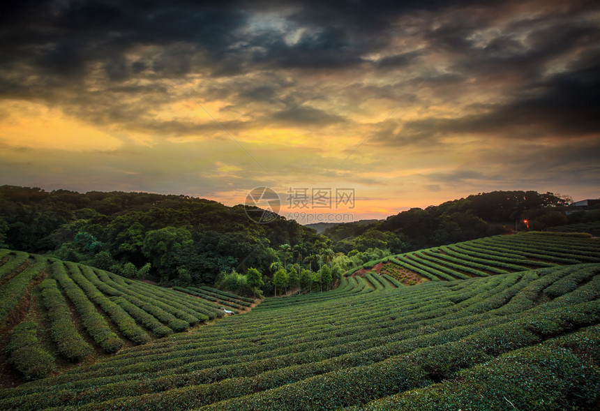
[[[451,133],[493,133],[519,139],[600,137],[599,89],[600,53],[594,53],[594,58],[580,59],[571,70],[532,82],[504,105],[481,107],[482,114],[409,121],[400,132],[385,137],[398,144]]]

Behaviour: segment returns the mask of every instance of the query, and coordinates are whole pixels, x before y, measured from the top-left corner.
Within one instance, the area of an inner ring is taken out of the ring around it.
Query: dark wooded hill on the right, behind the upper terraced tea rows
[[[404,253],[524,230],[527,225],[530,230],[545,230],[569,223],[566,209],[567,199],[553,193],[493,191],[402,211],[369,225],[335,225],[324,234],[333,241],[334,251],[388,248],[391,253]]]

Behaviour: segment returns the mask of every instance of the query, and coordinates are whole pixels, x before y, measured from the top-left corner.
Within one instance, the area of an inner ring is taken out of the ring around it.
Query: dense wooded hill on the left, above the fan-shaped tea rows
[[[215,283],[255,267],[317,266],[331,241],[285,218],[258,224],[243,205],[184,195],[0,187],[0,244],[163,284]]]

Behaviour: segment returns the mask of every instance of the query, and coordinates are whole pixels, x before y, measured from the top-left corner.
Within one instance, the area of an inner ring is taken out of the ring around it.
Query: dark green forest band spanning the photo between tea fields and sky
[[[89,264],[162,285],[241,294],[327,290],[343,272],[387,255],[494,234],[578,223],[553,193],[494,191],[324,235],[283,216],[259,224],[245,206],[186,195],[0,187],[0,246]],[[248,269],[260,279],[248,283]],[[254,274],[254,271],[252,271]]]

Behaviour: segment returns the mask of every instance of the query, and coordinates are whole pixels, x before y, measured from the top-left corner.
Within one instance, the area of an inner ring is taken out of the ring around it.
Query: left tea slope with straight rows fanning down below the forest
[[[223,317],[221,308],[239,313],[254,303],[209,287],[178,289],[0,249],[3,385],[89,364]]]

